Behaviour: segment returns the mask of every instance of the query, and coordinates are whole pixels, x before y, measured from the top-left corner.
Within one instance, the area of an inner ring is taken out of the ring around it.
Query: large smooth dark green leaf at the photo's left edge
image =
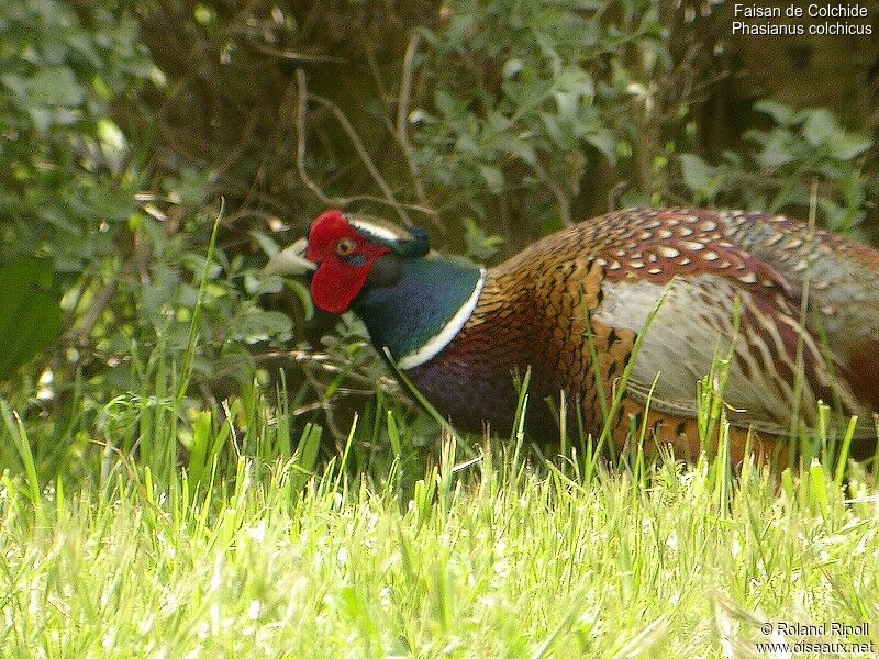
[[[0,268],[0,379],[5,379],[60,335],[60,292],[52,264],[24,257]]]

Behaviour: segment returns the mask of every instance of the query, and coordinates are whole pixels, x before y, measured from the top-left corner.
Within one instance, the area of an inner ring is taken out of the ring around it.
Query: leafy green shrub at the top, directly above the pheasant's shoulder
[[[544,233],[583,219],[571,208],[583,179],[599,161],[625,168],[647,79],[671,66],[656,8],[621,7],[464,0],[423,31],[431,103],[410,120],[441,208],[485,222],[507,193]]]

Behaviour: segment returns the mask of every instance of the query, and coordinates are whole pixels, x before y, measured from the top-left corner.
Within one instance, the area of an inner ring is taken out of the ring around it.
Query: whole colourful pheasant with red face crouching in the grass
[[[531,368],[532,400],[565,391],[600,433],[643,334],[608,421],[617,448],[646,427],[653,446],[696,455],[698,382],[719,357],[734,459],[749,431],[759,455],[786,451],[794,415],[815,427],[820,401],[876,439],[879,250],[785,216],[611,212],[487,270],[418,227],[331,210],[266,271],[305,275],[316,306],[353,310],[461,428],[509,427],[513,376]]]

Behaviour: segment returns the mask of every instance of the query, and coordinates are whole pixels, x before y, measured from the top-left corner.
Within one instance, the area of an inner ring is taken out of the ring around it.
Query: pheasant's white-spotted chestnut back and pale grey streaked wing
[[[819,401],[843,414],[876,409],[864,393],[865,383],[854,377],[863,372],[857,364],[863,350],[846,343],[842,325],[827,313],[828,305],[850,304],[859,294],[870,304],[879,301],[879,281],[870,292],[845,290],[854,269],[864,268],[856,259],[870,261],[876,253],[831,234],[810,243],[803,237],[806,231],[801,223],[764,213],[620,211],[549,236],[496,270],[501,278],[528,272],[534,283],[525,286],[533,287],[539,306],[534,313],[550,319],[535,319],[550,337],[544,368],[555,375],[557,386],[579,386],[585,407],[598,405],[596,369],[583,343],[587,327],[578,319],[589,314],[607,395],[635,336],[644,333],[647,316],[668,289],[644,336],[630,395],[645,403],[652,390],[654,409],[694,417],[697,382],[713,361],[728,358],[725,400],[733,423],[785,435],[797,409],[814,425]],[[816,268],[811,288],[804,283],[803,258]],[[870,276],[879,279],[876,271]],[[803,306],[812,309],[804,319]],[[814,312],[822,317],[814,319]],[[879,310],[849,317],[879,336]],[[820,338],[820,323],[831,330],[828,342]],[[867,386],[874,384],[867,379]]]

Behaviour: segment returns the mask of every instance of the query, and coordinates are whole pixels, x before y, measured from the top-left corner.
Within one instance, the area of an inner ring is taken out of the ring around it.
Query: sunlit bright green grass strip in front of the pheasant
[[[516,447],[456,462],[449,439],[435,467],[358,470],[352,428],[310,474],[310,427],[292,457],[221,446],[199,479],[112,453],[103,477],[45,485],[3,407],[25,468],[0,480],[0,656],[755,656],[764,621],[869,622],[879,645],[879,504],[844,503],[874,491],[857,468],[845,492],[819,462],[586,476]],[[269,412],[256,442],[290,421]]]

